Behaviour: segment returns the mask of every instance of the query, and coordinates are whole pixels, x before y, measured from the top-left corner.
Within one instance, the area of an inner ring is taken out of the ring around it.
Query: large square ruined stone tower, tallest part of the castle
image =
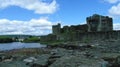
[[[87,17],[86,20],[88,32],[113,30],[113,20],[108,16],[94,14],[93,16]]]

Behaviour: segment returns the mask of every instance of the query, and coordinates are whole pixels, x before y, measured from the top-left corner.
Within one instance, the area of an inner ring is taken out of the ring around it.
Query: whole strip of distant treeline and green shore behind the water
[[[19,39],[23,39],[22,42],[40,42],[39,36],[31,35],[0,35],[0,43],[19,42]],[[21,42],[21,41],[20,41]]]

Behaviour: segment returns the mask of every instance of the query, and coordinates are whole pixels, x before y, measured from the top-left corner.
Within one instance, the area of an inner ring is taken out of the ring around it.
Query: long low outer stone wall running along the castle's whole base
[[[63,33],[61,35],[41,36],[41,41],[83,41],[83,40],[111,40],[120,39],[120,30],[107,32],[72,32]]]

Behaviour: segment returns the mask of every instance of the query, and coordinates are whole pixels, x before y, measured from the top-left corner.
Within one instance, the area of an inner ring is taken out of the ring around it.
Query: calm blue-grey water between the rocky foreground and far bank
[[[20,48],[41,48],[41,47],[46,47],[46,46],[41,45],[40,43],[21,43],[21,42],[0,44],[0,50],[12,50],[12,49],[20,49]]]

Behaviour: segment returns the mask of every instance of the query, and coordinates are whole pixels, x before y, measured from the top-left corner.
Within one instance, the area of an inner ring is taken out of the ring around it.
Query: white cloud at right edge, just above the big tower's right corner
[[[120,16],[120,3],[116,6],[112,6],[109,9],[109,14],[113,16]]]

